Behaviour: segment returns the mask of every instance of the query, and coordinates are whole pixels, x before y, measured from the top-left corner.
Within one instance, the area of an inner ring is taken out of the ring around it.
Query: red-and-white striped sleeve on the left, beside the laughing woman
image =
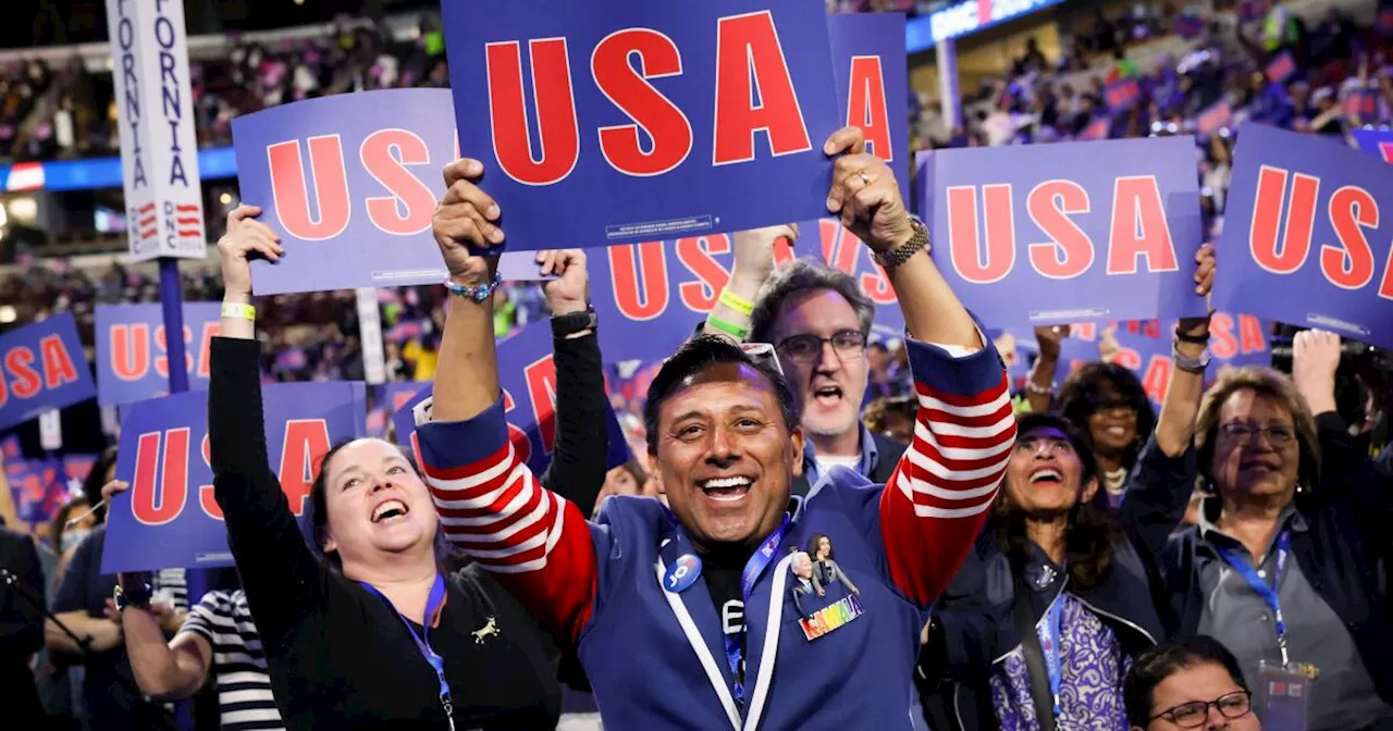
[[[518,458],[501,400],[465,422],[432,422],[417,408],[417,459],[446,536],[504,585],[543,628],[579,636],[599,565],[575,504],[542,487]]]

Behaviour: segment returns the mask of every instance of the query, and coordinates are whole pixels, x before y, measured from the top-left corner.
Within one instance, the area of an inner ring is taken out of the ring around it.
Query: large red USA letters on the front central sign
[[[503,173],[524,185],[560,182],[579,163],[571,52],[566,38],[528,40],[525,60],[520,40],[485,46],[493,155]],[[769,11],[717,18],[715,64],[712,166],[754,160],[756,132],[765,132],[773,156],[812,149]],[[525,65],[531,67],[528,78]],[[652,84],[683,72],[681,49],[666,33],[649,28],[617,31],[591,49],[591,82],[631,121],[598,131],[600,155],[612,168],[634,177],[660,175],[692,153],[696,141],[691,121]],[[531,109],[527,85],[532,89]],[[536,143],[529,114],[536,123]],[[646,150],[644,138],[649,141]]]

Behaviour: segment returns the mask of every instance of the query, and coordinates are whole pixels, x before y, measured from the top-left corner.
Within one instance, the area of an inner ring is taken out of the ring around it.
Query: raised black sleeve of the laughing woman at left
[[[223,508],[227,544],[256,628],[279,640],[306,610],[323,603],[323,576],[266,458],[260,344],[216,337],[212,348],[208,436],[213,496]]]

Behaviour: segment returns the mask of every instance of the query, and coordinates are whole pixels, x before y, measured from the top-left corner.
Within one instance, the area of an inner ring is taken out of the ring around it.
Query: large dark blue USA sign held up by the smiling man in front
[[[825,213],[822,143],[843,116],[818,3],[513,0],[442,18],[461,149],[510,248]]]

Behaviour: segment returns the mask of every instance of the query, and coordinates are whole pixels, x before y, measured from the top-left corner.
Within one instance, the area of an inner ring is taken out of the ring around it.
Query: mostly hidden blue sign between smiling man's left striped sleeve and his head
[[[503,387],[503,409],[508,420],[508,439],[518,458],[535,473],[542,475],[552,464],[556,448],[556,362],[552,356],[552,329],[546,323],[532,323],[521,333],[499,343],[499,384]],[[430,384],[400,405],[393,414],[397,443],[415,451],[417,430],[412,411],[430,397]],[[618,418],[609,401],[605,402],[605,430],[609,436],[606,468],[630,461],[628,443],[618,426]]]

